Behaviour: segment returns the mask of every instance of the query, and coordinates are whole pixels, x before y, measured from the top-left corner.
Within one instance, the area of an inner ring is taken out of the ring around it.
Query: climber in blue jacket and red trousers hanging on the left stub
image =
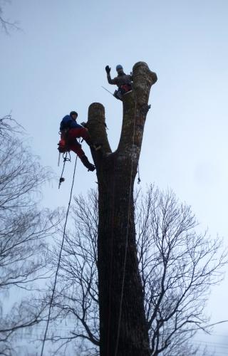
[[[66,152],[71,150],[75,152],[81,159],[81,162],[83,162],[84,166],[88,168],[88,171],[93,172],[95,166],[88,161],[88,157],[86,157],[77,138],[82,137],[92,150],[99,150],[100,145],[95,145],[92,142],[88,129],[78,124],[76,121],[77,117],[78,113],[76,111],[71,111],[70,115],[64,116],[63,120],[61,120],[61,140],[58,142],[58,151]]]

